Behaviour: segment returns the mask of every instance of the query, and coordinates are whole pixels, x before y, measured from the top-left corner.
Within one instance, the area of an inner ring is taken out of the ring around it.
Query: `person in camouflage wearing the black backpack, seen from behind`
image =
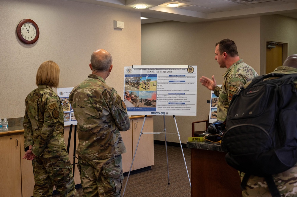
[[[272,73],[293,74],[297,73],[297,54],[290,55],[285,60],[283,66],[276,68]],[[272,79],[268,78],[267,80]],[[250,84],[246,84],[247,87]],[[297,89],[297,81],[294,81]],[[297,102],[297,101],[296,101]],[[240,172],[241,180],[243,179],[244,172]],[[277,189],[282,197],[295,197],[297,196],[297,164],[285,172],[272,175]],[[263,177],[250,176],[246,184],[246,188],[242,192],[242,196],[246,197],[271,197],[268,185]]]

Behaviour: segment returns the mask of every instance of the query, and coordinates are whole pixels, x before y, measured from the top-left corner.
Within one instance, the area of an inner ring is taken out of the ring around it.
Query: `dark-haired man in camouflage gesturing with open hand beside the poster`
[[[200,82],[215,95],[219,97],[217,120],[224,121],[227,117],[232,96],[239,91],[247,82],[258,76],[254,68],[250,67],[239,58],[237,47],[234,41],[224,39],[216,43],[215,60],[218,61],[221,68],[227,68],[222,87],[216,85],[216,80],[202,76]]]

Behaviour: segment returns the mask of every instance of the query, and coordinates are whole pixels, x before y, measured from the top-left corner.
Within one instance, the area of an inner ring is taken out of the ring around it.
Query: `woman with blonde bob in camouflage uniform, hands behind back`
[[[40,65],[36,75],[38,88],[26,97],[23,121],[26,154],[23,159],[32,160],[34,197],[52,196],[54,185],[61,197],[79,197],[64,142],[62,103],[52,90],[58,85],[59,74],[51,77],[52,70],[59,73],[59,67],[53,61]]]

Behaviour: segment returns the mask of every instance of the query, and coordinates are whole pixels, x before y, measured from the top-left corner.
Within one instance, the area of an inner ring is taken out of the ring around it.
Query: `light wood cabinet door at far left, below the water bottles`
[[[0,137],[0,196],[22,196],[20,135]]]

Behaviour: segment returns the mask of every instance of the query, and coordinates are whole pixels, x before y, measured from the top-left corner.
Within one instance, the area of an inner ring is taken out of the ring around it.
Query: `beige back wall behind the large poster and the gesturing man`
[[[260,72],[260,17],[224,20],[209,23],[162,22],[141,26],[142,65],[197,65],[200,76],[211,78],[218,84],[226,68],[219,68],[214,60],[215,43],[230,38],[235,41],[239,57]],[[191,137],[191,122],[207,119],[210,90],[197,84],[197,116],[176,116],[182,143]],[[166,132],[176,132],[172,116],[165,117]],[[164,128],[163,117],[154,117],[154,132]],[[205,126],[202,126],[203,130]],[[163,134],[154,134],[155,140],[164,140]],[[177,135],[167,135],[169,142],[179,142]]]

